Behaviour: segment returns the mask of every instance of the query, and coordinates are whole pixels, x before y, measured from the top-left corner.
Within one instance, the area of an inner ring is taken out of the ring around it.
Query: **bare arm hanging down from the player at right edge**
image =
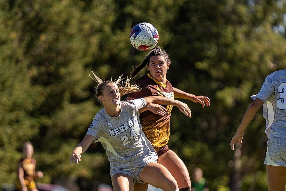
[[[236,143],[236,141],[238,141],[239,144],[242,143],[242,139],[243,139],[243,132],[245,130],[245,128],[247,127],[247,125],[250,123],[250,121],[253,119],[254,115],[256,114],[257,110],[264,104],[264,102],[259,99],[256,98],[254,101],[252,101],[252,103],[248,106],[243,120],[241,121],[239,127],[237,128],[236,134],[234,134],[234,136],[231,139],[230,142],[230,147],[231,150],[234,149],[234,143]]]

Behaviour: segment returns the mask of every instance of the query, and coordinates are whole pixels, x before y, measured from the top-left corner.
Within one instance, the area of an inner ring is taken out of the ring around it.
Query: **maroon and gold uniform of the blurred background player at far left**
[[[34,182],[34,173],[36,169],[36,160],[35,159],[21,159],[18,163],[20,167],[22,167],[24,171],[24,181],[28,190],[32,190],[36,188],[36,184]],[[18,180],[16,184],[16,188],[18,190],[22,190],[22,186]]]

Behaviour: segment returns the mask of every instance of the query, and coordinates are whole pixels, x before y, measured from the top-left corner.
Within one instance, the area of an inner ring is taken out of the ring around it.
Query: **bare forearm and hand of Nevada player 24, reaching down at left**
[[[94,136],[86,135],[81,143],[79,143],[74,151],[71,153],[70,161],[71,163],[74,162],[75,164],[79,164],[79,161],[81,161],[81,154],[84,153],[87,148],[90,146],[94,139]]]

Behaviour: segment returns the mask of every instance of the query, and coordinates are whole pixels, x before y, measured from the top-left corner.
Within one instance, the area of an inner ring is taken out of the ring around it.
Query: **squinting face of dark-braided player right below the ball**
[[[148,70],[155,80],[158,82],[165,82],[169,66],[170,64],[167,64],[163,56],[151,56]]]

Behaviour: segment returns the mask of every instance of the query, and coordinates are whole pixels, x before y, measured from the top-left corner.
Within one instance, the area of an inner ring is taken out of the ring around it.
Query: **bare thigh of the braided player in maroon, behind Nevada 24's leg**
[[[184,162],[178,155],[168,150],[166,153],[158,157],[158,163],[163,164],[176,179],[179,188],[191,187],[191,178],[189,171]]]

